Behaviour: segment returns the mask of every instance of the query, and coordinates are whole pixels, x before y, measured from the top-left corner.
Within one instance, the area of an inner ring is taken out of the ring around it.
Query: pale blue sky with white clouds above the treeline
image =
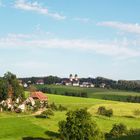
[[[140,0],[0,0],[0,76],[140,80]]]

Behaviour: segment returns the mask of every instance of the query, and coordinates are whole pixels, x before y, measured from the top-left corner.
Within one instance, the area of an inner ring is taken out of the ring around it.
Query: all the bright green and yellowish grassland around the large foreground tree
[[[49,102],[67,106],[68,110],[87,107],[92,119],[103,132],[108,132],[114,123],[124,123],[128,128],[140,128],[140,116],[134,115],[140,104],[107,101],[93,98],[79,98],[48,94]],[[96,114],[99,106],[112,108],[111,118]],[[58,135],[58,122],[65,119],[66,112],[55,112],[50,119],[39,119],[30,114],[0,113],[0,140],[49,140]],[[32,139],[31,139],[32,138]],[[132,138],[120,140],[132,140]],[[140,136],[136,136],[139,140]],[[135,140],[135,137],[133,137]]]

